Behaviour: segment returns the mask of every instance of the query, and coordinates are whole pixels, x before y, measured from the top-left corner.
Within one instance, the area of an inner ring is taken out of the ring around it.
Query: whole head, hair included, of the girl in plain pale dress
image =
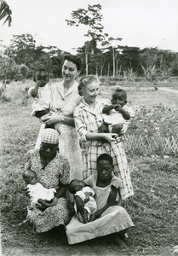
[[[110,181],[113,172],[113,160],[109,154],[100,154],[97,158],[97,172],[100,181]]]

